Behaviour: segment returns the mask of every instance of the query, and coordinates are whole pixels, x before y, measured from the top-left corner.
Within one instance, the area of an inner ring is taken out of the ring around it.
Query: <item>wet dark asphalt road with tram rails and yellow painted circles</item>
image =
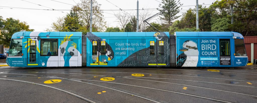
[[[256,101],[256,67],[0,68],[0,102]]]

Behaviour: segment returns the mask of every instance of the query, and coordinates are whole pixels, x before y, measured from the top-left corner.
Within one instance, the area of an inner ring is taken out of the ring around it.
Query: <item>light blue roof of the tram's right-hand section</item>
[[[194,36],[204,36],[204,37],[242,37],[240,33],[237,32],[175,32],[177,37],[194,37]]]

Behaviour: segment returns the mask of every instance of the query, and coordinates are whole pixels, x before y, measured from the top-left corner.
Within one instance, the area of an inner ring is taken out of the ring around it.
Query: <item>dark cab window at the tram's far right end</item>
[[[247,56],[244,46],[244,39],[235,39],[235,56]]]

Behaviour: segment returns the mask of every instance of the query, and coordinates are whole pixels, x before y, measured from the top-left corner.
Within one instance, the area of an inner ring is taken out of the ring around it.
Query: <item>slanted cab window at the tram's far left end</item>
[[[12,39],[8,56],[22,56],[22,39]]]

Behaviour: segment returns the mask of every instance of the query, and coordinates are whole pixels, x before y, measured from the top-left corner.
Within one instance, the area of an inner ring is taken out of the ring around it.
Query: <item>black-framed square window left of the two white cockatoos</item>
[[[40,56],[58,56],[57,39],[41,39]]]

